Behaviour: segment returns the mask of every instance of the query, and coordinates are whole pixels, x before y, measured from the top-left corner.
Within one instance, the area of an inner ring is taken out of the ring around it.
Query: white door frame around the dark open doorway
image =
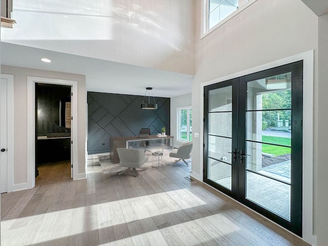
[[[72,87],[71,96],[71,165],[73,165],[73,180],[78,179],[78,149],[77,149],[77,81],[27,76],[27,182],[28,188],[35,186],[35,83],[65,85]]]

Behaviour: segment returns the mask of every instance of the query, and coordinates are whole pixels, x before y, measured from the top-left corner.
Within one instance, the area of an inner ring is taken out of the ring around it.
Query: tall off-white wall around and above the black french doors
[[[273,61],[315,51],[317,73],[318,18],[300,0],[261,0],[244,9],[209,35],[200,39],[201,0],[196,3],[195,71],[192,88],[194,138],[192,172],[202,180],[202,91],[201,83],[240,73]],[[297,10],[297,11],[296,11]],[[318,80],[314,79],[314,94]],[[316,97],[315,97],[316,98]],[[316,106],[316,101],[314,106]],[[314,112],[314,132],[317,120]],[[317,135],[314,134],[316,153]],[[317,163],[313,163],[314,171]],[[316,173],[314,179],[316,180]],[[316,187],[315,187],[316,190]],[[315,206],[314,201],[314,206]]]

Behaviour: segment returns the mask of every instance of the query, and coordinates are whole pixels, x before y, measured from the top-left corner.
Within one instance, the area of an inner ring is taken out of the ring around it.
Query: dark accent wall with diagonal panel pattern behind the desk
[[[157,110],[142,110],[144,96],[88,92],[88,154],[109,152],[109,138],[139,135],[141,128],[170,135],[170,98],[155,97]]]

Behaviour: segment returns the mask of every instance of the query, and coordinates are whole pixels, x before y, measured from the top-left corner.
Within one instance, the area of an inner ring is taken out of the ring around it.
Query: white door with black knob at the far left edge
[[[0,88],[0,193],[4,193],[8,186],[7,79],[1,78]]]

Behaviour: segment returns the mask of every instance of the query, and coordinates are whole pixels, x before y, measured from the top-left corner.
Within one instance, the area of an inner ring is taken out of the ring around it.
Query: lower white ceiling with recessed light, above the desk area
[[[40,58],[49,58],[44,63]],[[174,97],[191,93],[193,76],[1,42],[1,65],[86,75],[87,90]]]

